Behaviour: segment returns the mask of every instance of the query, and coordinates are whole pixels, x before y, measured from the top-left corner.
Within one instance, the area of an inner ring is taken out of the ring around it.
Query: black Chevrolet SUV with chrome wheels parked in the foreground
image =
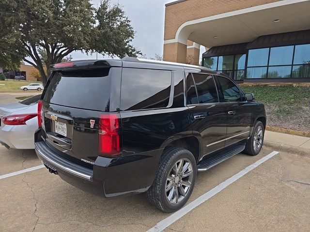
[[[83,190],[146,192],[173,212],[188,200],[197,172],[262,148],[263,104],[221,73],[137,58],[51,70],[35,150],[49,172]]]

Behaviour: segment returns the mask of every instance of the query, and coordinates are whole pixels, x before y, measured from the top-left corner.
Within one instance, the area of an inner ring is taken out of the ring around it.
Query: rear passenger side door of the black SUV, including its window
[[[203,155],[225,145],[227,109],[219,102],[214,77],[204,73],[186,74],[186,102],[193,133],[202,137]]]

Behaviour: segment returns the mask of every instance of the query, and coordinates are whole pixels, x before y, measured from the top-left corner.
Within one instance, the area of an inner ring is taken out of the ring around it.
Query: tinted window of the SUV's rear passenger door
[[[212,75],[200,73],[192,73],[191,75],[192,78],[188,77],[186,81],[188,89],[187,104],[218,102],[217,88]]]

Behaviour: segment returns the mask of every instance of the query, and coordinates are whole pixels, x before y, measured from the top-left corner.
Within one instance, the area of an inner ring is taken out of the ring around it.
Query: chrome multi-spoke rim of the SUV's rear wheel
[[[184,200],[193,182],[194,172],[190,160],[183,158],[172,166],[166,181],[166,198],[171,204]]]

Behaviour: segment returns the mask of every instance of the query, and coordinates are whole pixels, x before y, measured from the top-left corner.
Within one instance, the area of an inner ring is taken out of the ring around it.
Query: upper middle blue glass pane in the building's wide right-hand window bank
[[[292,64],[294,46],[270,48],[269,65]]]

